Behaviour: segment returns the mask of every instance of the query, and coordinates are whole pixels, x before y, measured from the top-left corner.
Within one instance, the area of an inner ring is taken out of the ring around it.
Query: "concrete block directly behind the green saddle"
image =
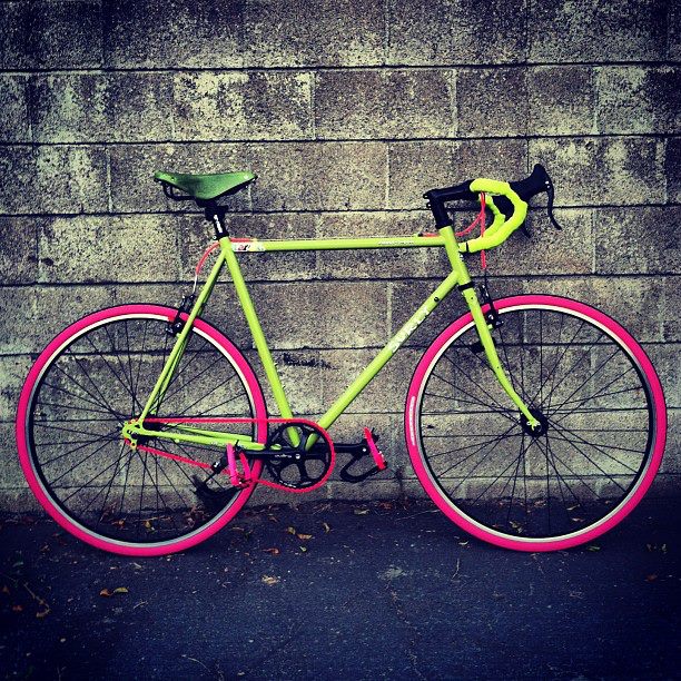
[[[233,172],[253,170],[245,145],[121,145],[110,147],[114,211],[196,210],[195,204],[164,196],[154,181],[156,170],[168,172]],[[249,190],[226,201],[234,210],[249,209]]]

